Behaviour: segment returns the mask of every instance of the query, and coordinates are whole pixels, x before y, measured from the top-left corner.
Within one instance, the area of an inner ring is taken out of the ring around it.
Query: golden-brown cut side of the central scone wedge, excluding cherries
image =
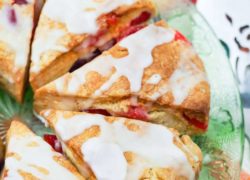
[[[67,97],[60,96],[56,93],[42,93],[41,97],[44,97],[42,101],[35,101],[35,110],[40,112],[43,109],[60,109],[70,111],[82,111],[88,99],[80,97]],[[108,112],[127,112],[128,107],[131,105],[131,98],[115,99],[110,97],[107,99],[99,99],[94,101],[91,108],[93,109],[106,109]],[[138,100],[139,106],[145,105],[145,101]],[[182,134],[201,134],[204,133],[204,129],[197,128],[188,123],[183,117],[183,112],[194,113],[194,116],[199,117],[208,123],[208,117],[206,114],[197,113],[192,110],[179,109],[175,107],[162,106],[152,104],[151,109],[148,112],[149,121],[157,124],[163,124],[167,127],[178,129]],[[120,115],[118,115],[120,116]]]

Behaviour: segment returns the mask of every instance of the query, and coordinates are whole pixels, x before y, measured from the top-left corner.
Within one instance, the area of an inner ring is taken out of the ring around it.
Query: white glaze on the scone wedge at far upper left
[[[27,13],[33,1],[27,5],[8,5],[3,2],[0,9],[0,41],[6,43],[15,53],[14,72],[24,68],[28,62],[30,38],[33,29],[33,15]],[[14,10],[16,23],[10,22],[10,11]],[[10,79],[10,81],[12,81]]]

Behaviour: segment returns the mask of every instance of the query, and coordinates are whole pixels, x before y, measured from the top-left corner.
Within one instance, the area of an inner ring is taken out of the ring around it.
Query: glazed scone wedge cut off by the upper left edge
[[[0,2],[0,85],[19,102],[23,98],[36,7],[35,0]]]

